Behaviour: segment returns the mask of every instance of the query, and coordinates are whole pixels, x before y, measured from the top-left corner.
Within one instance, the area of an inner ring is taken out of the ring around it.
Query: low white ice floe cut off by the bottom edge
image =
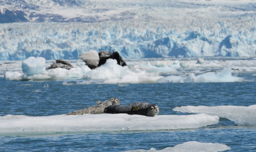
[[[230,150],[227,145],[220,143],[201,143],[196,141],[185,142],[183,144],[176,145],[174,147],[167,147],[162,150],[156,150],[151,148],[150,150],[127,150],[125,152],[218,152],[224,150]]]

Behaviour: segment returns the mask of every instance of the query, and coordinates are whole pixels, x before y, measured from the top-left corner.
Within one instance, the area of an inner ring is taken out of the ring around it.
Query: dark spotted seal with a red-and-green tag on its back
[[[135,102],[128,105],[110,105],[104,109],[107,114],[139,114],[148,117],[154,117],[159,112],[159,108],[155,104],[147,102]]]

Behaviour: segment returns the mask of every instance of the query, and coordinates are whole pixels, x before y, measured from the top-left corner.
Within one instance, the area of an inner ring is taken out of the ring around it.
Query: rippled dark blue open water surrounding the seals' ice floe
[[[256,82],[65,86],[62,81],[0,80],[0,85],[1,116],[66,114],[111,97],[119,98],[122,105],[138,101],[155,103],[159,114],[168,115],[186,114],[173,111],[176,106],[250,106],[256,101]],[[221,143],[232,148],[228,151],[256,151],[256,127],[235,126],[234,122],[220,118],[216,125],[186,130],[1,136],[0,151],[123,151],[151,147],[161,150],[188,141]]]

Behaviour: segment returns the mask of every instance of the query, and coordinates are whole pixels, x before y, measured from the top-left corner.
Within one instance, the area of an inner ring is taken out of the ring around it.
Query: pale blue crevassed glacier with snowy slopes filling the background
[[[256,1],[4,0],[0,60],[256,56]]]

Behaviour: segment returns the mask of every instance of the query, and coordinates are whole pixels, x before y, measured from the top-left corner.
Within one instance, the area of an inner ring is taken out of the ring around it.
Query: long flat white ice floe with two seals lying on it
[[[155,117],[128,114],[62,114],[40,117],[6,115],[0,116],[0,135],[175,130],[200,128],[218,122],[219,117],[207,114]]]

